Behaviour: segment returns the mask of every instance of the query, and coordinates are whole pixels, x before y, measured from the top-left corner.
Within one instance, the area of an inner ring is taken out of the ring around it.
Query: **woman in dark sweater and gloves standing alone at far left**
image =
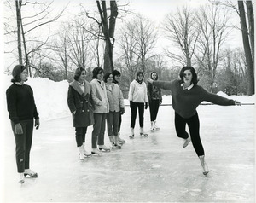
[[[31,86],[24,84],[27,80],[26,67],[16,65],[12,72],[12,85],[6,90],[7,107],[12,130],[15,135],[16,165],[20,174],[19,183],[24,177],[38,177],[38,173],[30,169],[30,150],[35,127],[39,129],[39,116]]]

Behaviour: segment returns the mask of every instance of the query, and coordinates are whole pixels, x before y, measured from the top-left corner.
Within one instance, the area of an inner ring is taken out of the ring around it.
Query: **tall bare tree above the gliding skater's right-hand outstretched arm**
[[[201,29],[195,54],[199,72],[207,76],[207,90],[212,91],[221,49],[229,34],[229,14],[218,6],[201,7],[197,16]]]

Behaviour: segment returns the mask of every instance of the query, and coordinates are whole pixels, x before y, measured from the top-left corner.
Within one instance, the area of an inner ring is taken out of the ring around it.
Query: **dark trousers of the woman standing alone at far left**
[[[20,121],[23,134],[15,134],[15,123],[11,121],[11,125],[15,135],[17,170],[18,172],[24,172],[25,169],[29,169],[34,120]]]

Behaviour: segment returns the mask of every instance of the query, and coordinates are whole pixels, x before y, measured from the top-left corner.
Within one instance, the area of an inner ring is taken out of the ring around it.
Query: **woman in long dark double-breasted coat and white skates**
[[[73,115],[73,127],[76,131],[76,142],[79,148],[79,158],[90,157],[85,150],[85,134],[87,126],[94,124],[93,107],[90,102],[90,83],[85,80],[85,69],[78,67],[74,81],[69,84],[67,104]]]

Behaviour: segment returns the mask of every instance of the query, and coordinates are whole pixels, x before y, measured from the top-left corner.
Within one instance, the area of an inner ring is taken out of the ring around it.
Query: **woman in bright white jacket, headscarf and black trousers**
[[[140,124],[140,135],[148,136],[144,133],[144,107],[148,108],[148,94],[147,94],[147,84],[143,81],[144,74],[139,71],[136,74],[136,79],[134,79],[130,84],[128,100],[130,101],[131,107],[131,139],[134,138],[134,126],[137,117],[137,108],[139,112],[139,124]]]

